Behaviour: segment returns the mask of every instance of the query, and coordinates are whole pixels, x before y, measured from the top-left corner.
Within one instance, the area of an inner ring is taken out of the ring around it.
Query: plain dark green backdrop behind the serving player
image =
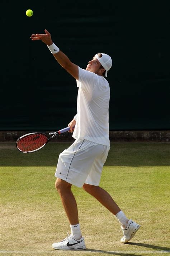
[[[76,114],[75,79],[30,39],[44,29],[82,68],[112,57],[110,130],[169,130],[169,13],[169,1],[3,1],[0,130],[57,130]]]

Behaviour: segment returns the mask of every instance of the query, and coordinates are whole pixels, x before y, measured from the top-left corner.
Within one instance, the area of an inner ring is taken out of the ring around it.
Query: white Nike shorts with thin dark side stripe
[[[98,186],[109,149],[86,139],[75,140],[59,155],[55,177],[77,187],[84,183]]]

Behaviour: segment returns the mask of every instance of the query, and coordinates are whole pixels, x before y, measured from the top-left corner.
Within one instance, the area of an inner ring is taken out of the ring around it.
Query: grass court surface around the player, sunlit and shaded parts
[[[4,255],[169,255],[170,144],[111,143],[100,186],[141,229],[127,244],[115,217],[81,188],[72,187],[85,251],[55,251],[70,232],[55,190],[58,155],[70,143],[48,143],[23,154],[0,143],[1,247]]]

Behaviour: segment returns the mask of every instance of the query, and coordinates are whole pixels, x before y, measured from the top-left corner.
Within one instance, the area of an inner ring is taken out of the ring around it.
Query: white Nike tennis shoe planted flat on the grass
[[[86,249],[86,246],[84,242],[84,237],[81,237],[79,240],[77,240],[69,235],[61,242],[53,243],[52,248],[54,248],[55,250],[84,250]]]

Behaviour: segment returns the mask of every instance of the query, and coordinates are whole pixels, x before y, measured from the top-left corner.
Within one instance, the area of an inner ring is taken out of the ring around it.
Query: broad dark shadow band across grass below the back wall
[[[23,154],[15,143],[0,143],[1,166],[56,166],[59,154],[71,143],[48,143]],[[169,166],[170,143],[111,143],[105,166]]]

